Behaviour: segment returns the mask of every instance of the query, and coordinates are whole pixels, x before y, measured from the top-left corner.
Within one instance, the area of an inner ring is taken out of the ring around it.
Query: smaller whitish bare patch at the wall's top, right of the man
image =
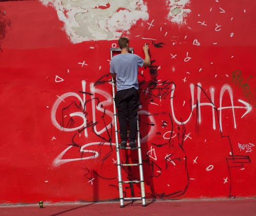
[[[189,3],[189,0],[166,0],[169,7],[167,18],[178,25],[186,24],[185,17],[191,12],[189,8],[186,8]]]

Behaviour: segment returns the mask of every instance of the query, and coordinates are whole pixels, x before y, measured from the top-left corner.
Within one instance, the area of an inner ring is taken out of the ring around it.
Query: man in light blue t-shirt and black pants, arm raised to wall
[[[120,127],[120,148],[126,148],[127,141],[127,118],[129,119],[130,147],[136,149],[137,135],[137,112],[138,112],[138,67],[150,66],[150,55],[148,54],[148,45],[143,46],[145,59],[136,54],[129,53],[129,39],[120,37],[118,45],[121,54],[115,55],[110,62],[110,73],[116,82],[117,93],[115,103],[118,112],[118,121]]]

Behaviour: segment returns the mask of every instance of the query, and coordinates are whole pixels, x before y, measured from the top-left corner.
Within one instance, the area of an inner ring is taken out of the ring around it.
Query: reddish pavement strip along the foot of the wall
[[[172,200],[149,201],[142,207],[141,202],[125,202],[120,208],[119,202],[97,203],[44,203],[29,205],[0,205],[1,216],[80,216],[80,215],[121,215],[121,216],[160,216],[160,215],[218,215],[218,216],[255,216],[256,199],[207,199],[207,200]]]

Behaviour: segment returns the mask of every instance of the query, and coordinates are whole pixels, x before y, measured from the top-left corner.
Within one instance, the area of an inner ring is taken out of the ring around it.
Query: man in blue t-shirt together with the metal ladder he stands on
[[[115,139],[116,139],[116,152],[117,152],[117,171],[118,171],[118,189],[120,198],[120,207],[124,207],[124,200],[141,199],[142,206],[146,206],[145,201],[145,189],[144,178],[142,168],[142,154],[140,146],[140,133],[139,133],[139,121],[138,121],[138,67],[150,66],[151,60],[148,54],[148,45],[143,46],[145,59],[134,54],[133,48],[129,47],[129,39],[121,37],[118,40],[118,48],[111,48],[111,63],[110,73],[112,75],[112,92],[113,92],[113,105],[114,105],[114,119],[115,119]],[[118,55],[113,56],[113,51],[121,52]],[[129,53],[132,51],[132,53]],[[115,95],[115,84],[117,93]],[[118,130],[117,130],[117,118],[116,108],[118,111],[118,120],[120,127],[120,139],[118,142]],[[119,149],[125,149],[127,143],[127,118],[129,119],[129,146],[132,150],[138,148],[139,163],[133,164],[121,164]],[[136,147],[136,135],[138,147]],[[122,181],[121,166],[139,166],[140,180],[139,181]],[[123,183],[130,183],[133,188],[133,183],[140,183],[141,197],[124,198],[123,197]]]

